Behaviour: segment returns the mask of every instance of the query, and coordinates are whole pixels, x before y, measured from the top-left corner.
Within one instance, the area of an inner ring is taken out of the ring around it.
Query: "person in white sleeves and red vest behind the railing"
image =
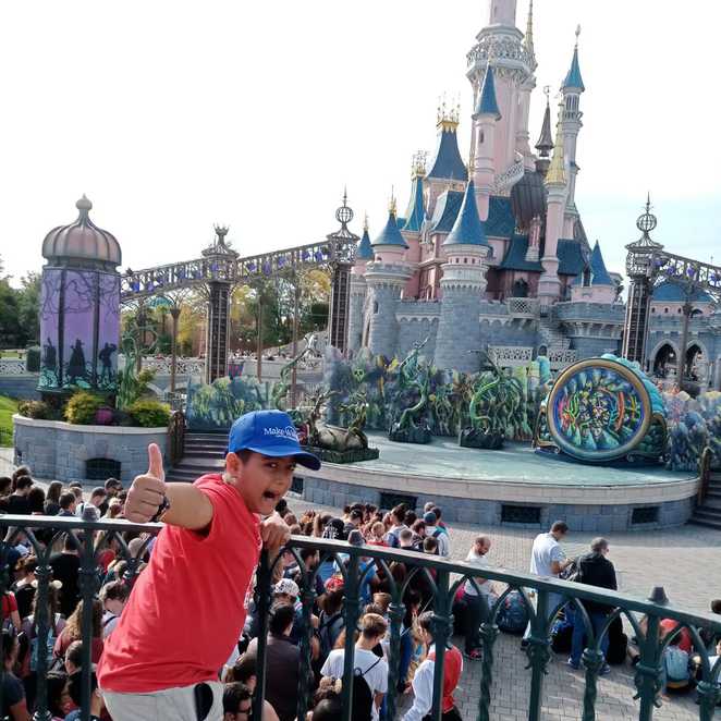
[[[413,706],[406,711],[403,721],[421,721],[433,704],[433,676],[436,675],[436,646],[433,639],[433,613],[426,611],[418,616],[423,639],[428,647],[426,660],[417,668],[413,677]],[[455,707],[455,692],[463,673],[463,658],[455,646],[448,644],[443,655],[443,689],[441,695],[442,721],[462,721]]]

